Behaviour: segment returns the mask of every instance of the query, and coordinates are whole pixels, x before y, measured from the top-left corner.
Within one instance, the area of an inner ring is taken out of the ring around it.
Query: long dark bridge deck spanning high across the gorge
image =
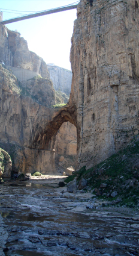
[[[0,23],[2,25],[5,25],[5,24],[8,24],[8,23],[17,22],[17,21],[20,21],[20,20],[32,19],[34,17],[39,17],[39,16],[48,15],[48,14],[52,14],[52,13],[59,13],[61,11],[68,11],[68,10],[72,10],[72,9],[77,8],[77,5],[78,4],[67,5],[67,6],[64,6],[64,7],[59,7],[59,8],[46,10],[46,11],[41,11],[39,13],[33,13],[33,14],[26,15],[26,16],[15,17],[13,19],[2,20]]]

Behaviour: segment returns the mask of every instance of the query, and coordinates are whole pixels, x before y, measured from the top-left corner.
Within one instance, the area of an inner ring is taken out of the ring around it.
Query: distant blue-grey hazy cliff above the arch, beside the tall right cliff
[[[49,70],[54,89],[61,90],[61,92],[70,95],[72,72],[55,65],[49,66],[49,64],[47,64],[47,68]]]

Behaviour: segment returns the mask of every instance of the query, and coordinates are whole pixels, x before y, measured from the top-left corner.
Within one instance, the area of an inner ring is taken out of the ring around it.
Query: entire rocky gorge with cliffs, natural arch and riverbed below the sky
[[[2,256],[139,255],[138,16],[80,0],[72,72],[0,23]]]

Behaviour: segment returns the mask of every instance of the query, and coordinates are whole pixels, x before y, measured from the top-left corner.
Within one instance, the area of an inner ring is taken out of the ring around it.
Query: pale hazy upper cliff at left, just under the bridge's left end
[[[29,51],[28,43],[23,37],[20,37],[20,33],[10,31],[1,24],[0,60],[5,63],[6,66],[15,67],[19,69],[19,71],[20,69],[32,71],[34,72],[33,76],[40,74],[42,77],[50,79],[46,63],[37,54]],[[22,80],[26,80],[26,73]]]

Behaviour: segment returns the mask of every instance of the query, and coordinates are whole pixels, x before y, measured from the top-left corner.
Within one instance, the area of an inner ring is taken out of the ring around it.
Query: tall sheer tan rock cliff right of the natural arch
[[[77,169],[99,163],[138,134],[138,14],[138,0],[78,4],[70,57]]]

